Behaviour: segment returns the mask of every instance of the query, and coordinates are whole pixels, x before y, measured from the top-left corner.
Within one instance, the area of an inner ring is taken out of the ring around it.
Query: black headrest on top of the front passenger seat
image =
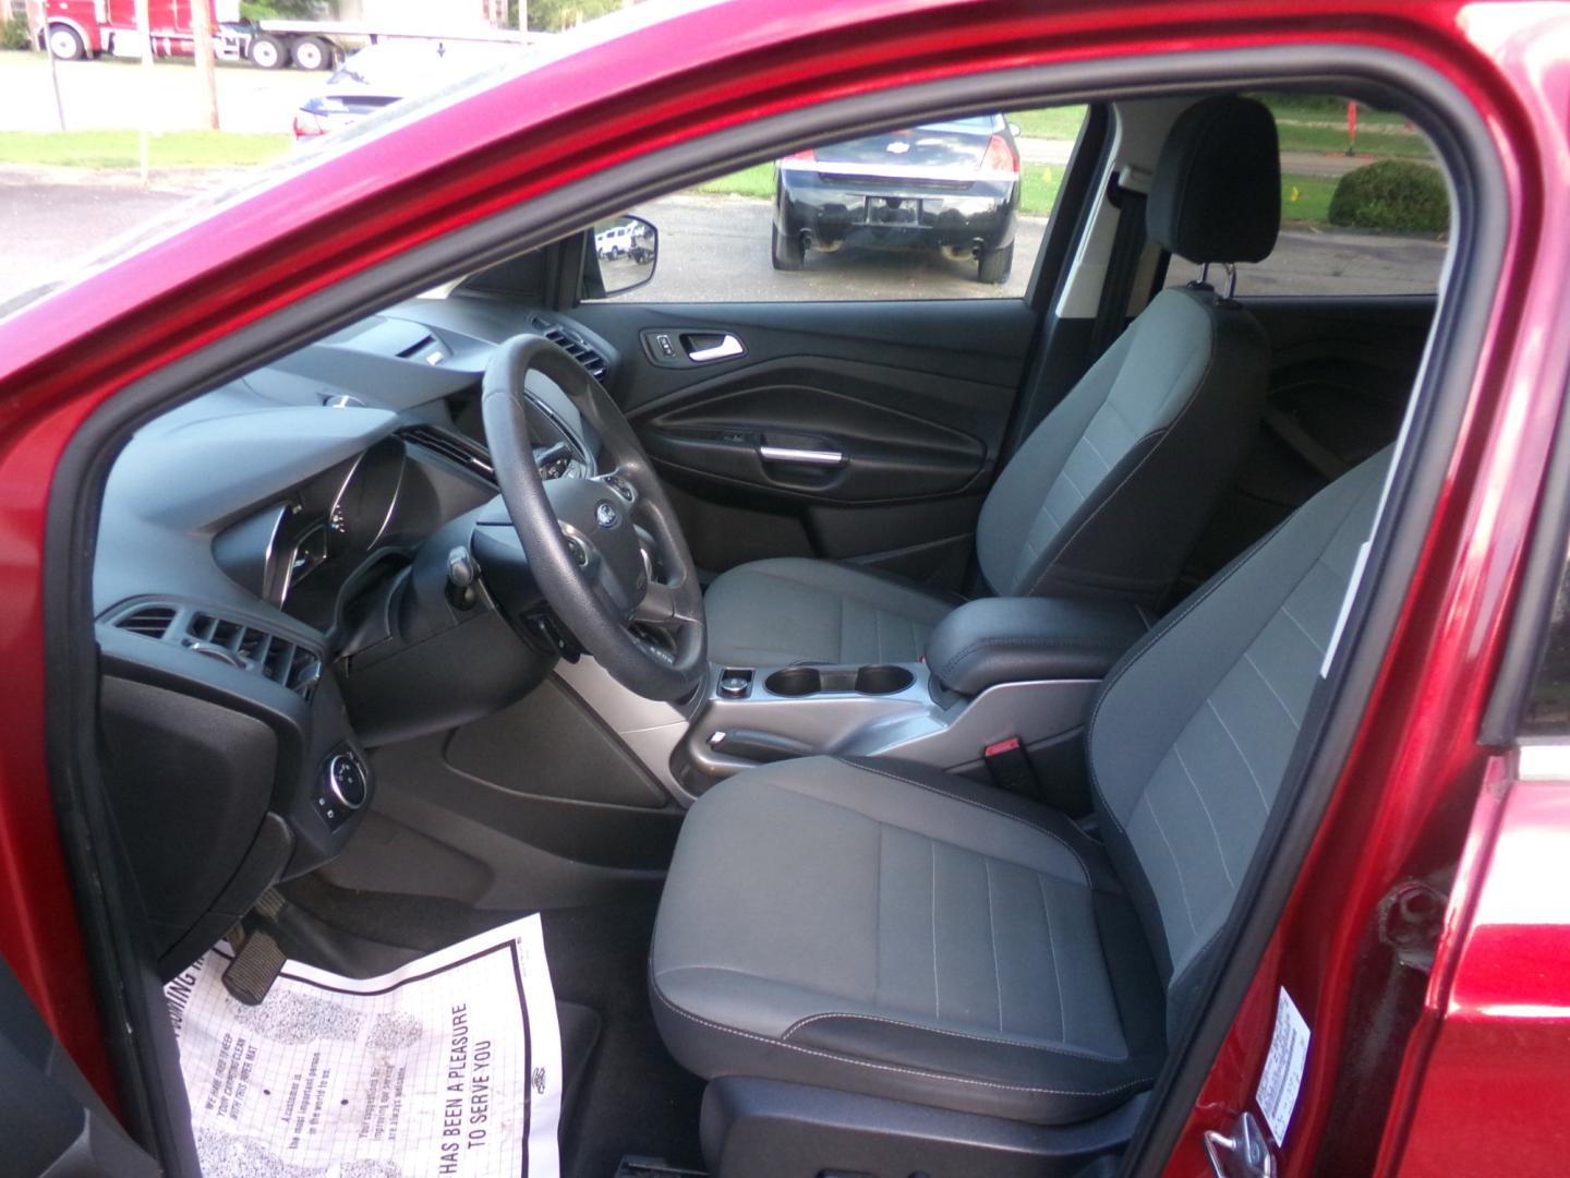
[[[1173,124],[1145,206],[1151,240],[1190,262],[1259,262],[1281,228],[1281,149],[1264,104],[1232,94]]]

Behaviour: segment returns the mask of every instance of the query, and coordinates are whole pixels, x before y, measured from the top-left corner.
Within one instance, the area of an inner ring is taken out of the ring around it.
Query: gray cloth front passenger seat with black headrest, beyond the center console
[[[1214,97],[1162,148],[1149,237],[1193,262],[1256,262],[1281,218],[1275,121]],[[1005,597],[1156,605],[1254,435],[1269,379],[1259,324],[1209,287],[1159,294],[1025,438],[977,523]],[[705,597],[710,658],[733,666],[904,663],[955,602],[854,564],[785,558],[722,573]]]

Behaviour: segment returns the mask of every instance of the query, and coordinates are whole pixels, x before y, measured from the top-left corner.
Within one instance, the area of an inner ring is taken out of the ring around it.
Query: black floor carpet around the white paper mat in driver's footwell
[[[353,938],[421,953],[524,916],[482,913],[452,900],[353,892],[309,876],[279,891]],[[648,1008],[648,941],[658,902],[652,886],[637,902],[543,914],[568,1073],[564,1178],[612,1178],[626,1154],[702,1169],[697,1118],[703,1082],[666,1052]],[[339,961],[312,964],[342,968]]]

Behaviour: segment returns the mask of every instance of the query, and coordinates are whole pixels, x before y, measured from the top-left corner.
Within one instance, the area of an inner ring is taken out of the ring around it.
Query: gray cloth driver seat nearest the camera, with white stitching
[[[1283,803],[1386,465],[1113,669],[1086,735],[1101,840],[887,760],[779,762],[703,795],[650,955],[677,1060],[1036,1125],[1149,1087]]]

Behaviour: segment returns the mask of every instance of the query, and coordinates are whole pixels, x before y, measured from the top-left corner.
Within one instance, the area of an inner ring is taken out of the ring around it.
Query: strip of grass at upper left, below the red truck
[[[154,135],[154,168],[248,168],[278,159],[289,135],[237,135],[226,130],[171,130]],[[64,168],[137,168],[141,143],[135,130],[0,132],[0,163]]]

